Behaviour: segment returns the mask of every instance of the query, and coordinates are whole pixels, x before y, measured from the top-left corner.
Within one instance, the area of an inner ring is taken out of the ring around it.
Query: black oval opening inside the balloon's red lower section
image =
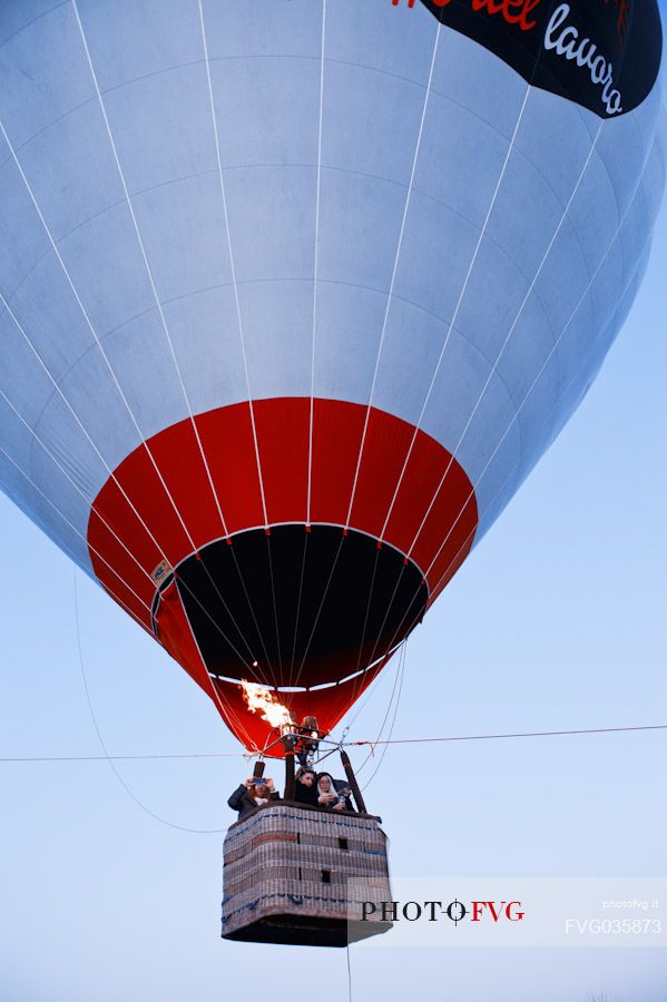
[[[365,668],[406,636],[428,600],[411,560],[332,525],[216,541],[179,564],[176,582],[209,672],[276,686]]]

